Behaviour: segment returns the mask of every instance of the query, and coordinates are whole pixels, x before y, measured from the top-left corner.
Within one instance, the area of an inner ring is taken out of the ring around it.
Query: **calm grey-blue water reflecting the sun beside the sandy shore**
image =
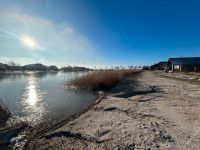
[[[94,102],[87,90],[63,88],[82,73],[0,73],[0,97],[13,116],[31,123],[62,119]]]

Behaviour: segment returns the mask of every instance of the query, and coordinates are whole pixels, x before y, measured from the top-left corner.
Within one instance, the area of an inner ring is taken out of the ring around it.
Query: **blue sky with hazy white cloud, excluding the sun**
[[[198,0],[0,0],[0,61],[93,67],[200,56],[199,8]]]

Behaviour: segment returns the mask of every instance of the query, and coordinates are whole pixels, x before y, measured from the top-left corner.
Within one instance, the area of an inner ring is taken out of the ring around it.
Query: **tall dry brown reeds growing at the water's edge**
[[[108,90],[118,84],[125,76],[138,70],[101,70],[87,73],[68,82],[68,85],[77,88],[86,88],[92,91]]]

